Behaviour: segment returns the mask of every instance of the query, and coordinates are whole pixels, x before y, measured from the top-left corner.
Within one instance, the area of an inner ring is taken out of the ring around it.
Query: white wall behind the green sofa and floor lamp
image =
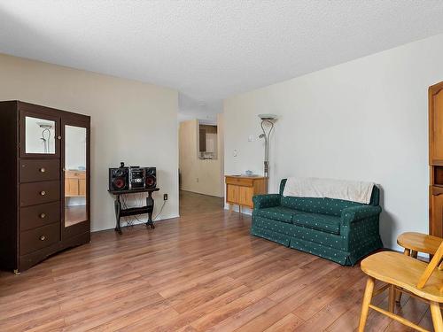
[[[443,81],[442,58],[437,35],[228,98],[225,174],[262,174],[257,114],[276,113],[271,192],[288,176],[375,181],[385,246],[398,248],[404,231],[427,233],[427,89]]]

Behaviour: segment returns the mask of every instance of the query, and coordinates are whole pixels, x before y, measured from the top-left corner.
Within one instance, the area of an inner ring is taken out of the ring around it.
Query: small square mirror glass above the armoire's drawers
[[[55,154],[55,121],[25,117],[26,153]]]

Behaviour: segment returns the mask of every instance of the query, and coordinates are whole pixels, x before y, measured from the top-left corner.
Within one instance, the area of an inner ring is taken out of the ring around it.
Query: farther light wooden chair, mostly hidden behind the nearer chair
[[[405,250],[403,253],[406,256],[417,258],[418,252],[427,253],[433,255],[439,245],[443,242],[443,239],[437,236],[427,235],[416,232],[402,233],[397,237],[397,244],[403,247]],[[441,269],[441,266],[439,266]],[[395,302],[400,303],[401,292],[397,291],[395,294]]]

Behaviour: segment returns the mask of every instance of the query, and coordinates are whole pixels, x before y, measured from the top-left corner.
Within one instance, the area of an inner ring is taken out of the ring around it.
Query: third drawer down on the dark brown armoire
[[[53,202],[20,208],[20,231],[60,221],[60,203]]]

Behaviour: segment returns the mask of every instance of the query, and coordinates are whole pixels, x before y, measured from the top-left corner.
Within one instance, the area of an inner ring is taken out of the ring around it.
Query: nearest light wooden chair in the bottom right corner
[[[383,313],[393,320],[398,320],[409,328],[426,331],[412,321],[393,313],[395,291],[398,290],[429,303],[435,331],[443,332],[443,321],[440,312],[440,304],[443,303],[443,271],[437,268],[442,257],[443,243],[439,245],[429,264],[392,251],[378,252],[367,259],[363,259],[361,261],[361,270],[368,274],[368,281],[366,282],[366,290],[361,306],[359,331],[364,331],[369,308],[378,313]],[[376,280],[386,284],[379,290],[374,291]],[[372,297],[386,289],[389,289],[388,310],[371,305]]]

